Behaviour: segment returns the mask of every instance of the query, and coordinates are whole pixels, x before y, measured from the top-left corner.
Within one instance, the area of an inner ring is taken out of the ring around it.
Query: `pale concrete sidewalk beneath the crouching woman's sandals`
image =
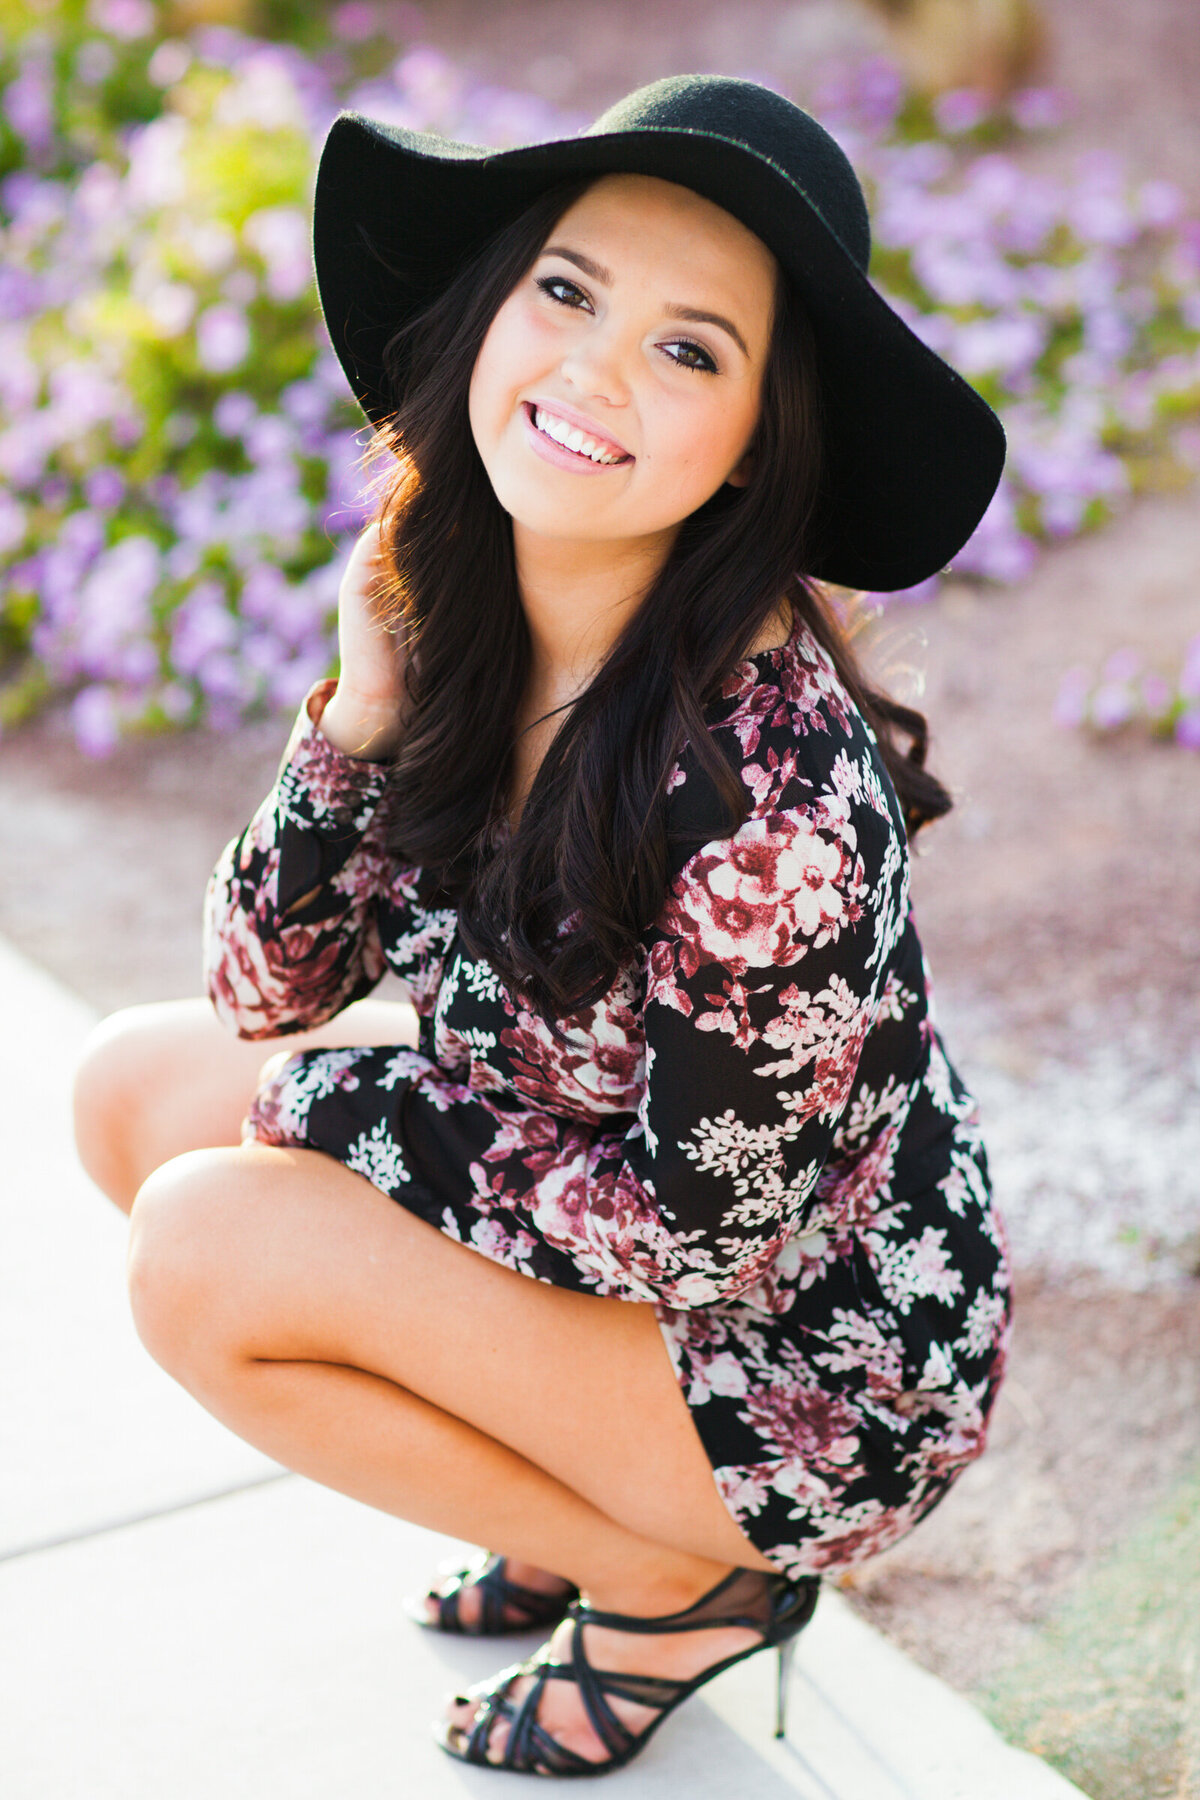
[[[0,1771],[5,1800],[529,1793],[443,1757],[443,1692],[536,1640],[439,1638],[403,1593],[457,1546],[286,1474],[146,1355],[121,1215],[70,1150],[90,1013],[0,945]],[[729,1670],[612,1791],[689,1800],[1069,1800],[961,1696],[822,1597],[772,1739]],[[608,1789],[606,1789],[608,1791]]]

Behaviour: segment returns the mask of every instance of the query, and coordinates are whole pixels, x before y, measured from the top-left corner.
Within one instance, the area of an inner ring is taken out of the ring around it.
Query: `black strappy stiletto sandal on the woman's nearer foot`
[[[482,1706],[475,1715],[470,1732],[444,1721],[435,1726],[437,1742],[461,1762],[475,1762],[488,1769],[509,1769],[518,1775],[606,1775],[621,1769],[642,1750],[658,1730],[669,1712],[675,1712],[696,1688],[703,1687],[723,1669],[756,1656],[759,1651],[779,1651],[779,1672],[775,1688],[775,1737],[786,1730],[788,1672],[795,1652],[795,1640],[813,1616],[817,1607],[819,1577],[788,1580],[784,1575],[766,1575],[759,1570],[732,1570],[709,1593],[702,1595],[694,1606],[684,1613],[667,1613],[662,1618],[633,1618],[624,1613],[597,1613],[587,1600],[576,1600],[570,1607],[572,1656],[569,1663],[549,1660],[549,1645],[536,1656],[513,1669],[502,1669],[486,1688],[457,1696],[459,1705],[470,1705],[482,1697]],[[660,1634],[673,1631],[698,1631],[718,1625],[743,1625],[761,1633],[761,1643],[736,1656],[723,1656],[711,1669],[703,1669],[691,1681],[673,1681],[666,1676],[639,1676],[622,1670],[594,1669],[583,1649],[581,1625],[606,1625],[612,1631]],[[522,1676],[533,1676],[533,1687],[522,1701],[513,1703],[509,1694]],[[579,1688],[592,1730],[608,1750],[604,1762],[590,1762],[578,1751],[560,1744],[558,1739],[538,1724],[538,1706],[547,1681],[574,1681]],[[606,1696],[635,1701],[639,1706],[655,1706],[657,1717],[642,1732],[631,1732],[608,1705]],[[488,1757],[488,1744],[497,1723],[504,1719],[509,1735],[498,1760]]]

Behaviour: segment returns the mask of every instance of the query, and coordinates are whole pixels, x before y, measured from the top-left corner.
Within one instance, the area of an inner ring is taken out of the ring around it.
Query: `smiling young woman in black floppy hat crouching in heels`
[[[221,1024],[103,1028],[81,1148],[178,1381],[491,1546],[421,1624],[558,1622],[444,1748],[597,1773],[766,1645],[783,1701],[820,1571],[984,1444],[1006,1262],[907,900],[948,797],[817,578],[941,567],[1002,434],[750,83],[504,155],[347,115],[315,241],[394,475],[212,878]]]

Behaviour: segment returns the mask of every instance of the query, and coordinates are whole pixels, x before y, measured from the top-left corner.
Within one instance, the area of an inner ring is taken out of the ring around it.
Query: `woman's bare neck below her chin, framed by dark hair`
[[[624,544],[543,538],[513,522],[513,553],[533,646],[538,704],[558,706],[590,682],[630,623],[671,536]]]

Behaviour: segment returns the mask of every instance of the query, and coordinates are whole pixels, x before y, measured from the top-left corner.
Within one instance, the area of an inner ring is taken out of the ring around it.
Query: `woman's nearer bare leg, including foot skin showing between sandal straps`
[[[250,1145],[160,1170],[130,1285],[148,1348],[203,1406],[369,1505],[646,1616],[770,1568],[716,1492],[651,1307],[515,1274],[327,1157]],[[756,1642],[588,1633],[601,1667],[673,1676]],[[569,1683],[543,1723],[599,1755]]]

